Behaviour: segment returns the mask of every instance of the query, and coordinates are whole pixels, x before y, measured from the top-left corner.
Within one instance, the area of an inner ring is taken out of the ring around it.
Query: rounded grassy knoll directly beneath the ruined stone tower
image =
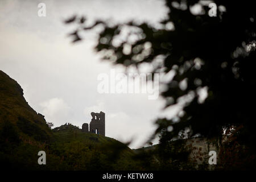
[[[63,129],[65,127],[65,129]],[[135,169],[133,151],[113,138],[93,133],[82,133],[73,125],[62,125],[53,129],[54,154],[65,159],[68,169],[103,170]],[[70,165],[71,164],[71,165]]]

